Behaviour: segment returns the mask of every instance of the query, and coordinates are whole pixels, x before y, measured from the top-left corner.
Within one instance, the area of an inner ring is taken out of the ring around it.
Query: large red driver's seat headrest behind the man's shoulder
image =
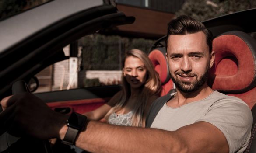
[[[256,103],[256,41],[242,31],[224,33],[213,41],[215,63],[208,84],[214,89]]]

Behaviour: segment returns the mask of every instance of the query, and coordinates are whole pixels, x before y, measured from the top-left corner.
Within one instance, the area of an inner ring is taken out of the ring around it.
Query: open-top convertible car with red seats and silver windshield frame
[[[253,32],[256,25],[251,21],[253,14],[256,9],[217,17],[203,24],[214,34],[213,49],[216,52],[208,84],[214,90],[243,99],[255,115],[256,40]],[[68,59],[63,52],[64,46],[100,29],[132,24],[134,20],[134,17],[119,12],[112,0],[54,0],[0,21],[0,99],[16,93],[14,91],[19,87],[13,84],[17,81],[28,83],[47,66]],[[161,96],[175,90],[168,76],[165,52],[163,37],[154,43],[149,54],[161,78]],[[96,109],[119,90],[119,85],[108,85],[35,95],[53,110],[70,114]],[[252,138],[246,153],[256,150],[253,139],[255,118],[253,120]],[[0,153],[76,151],[66,146],[58,150],[46,141],[16,138],[6,131],[1,131],[0,135]]]

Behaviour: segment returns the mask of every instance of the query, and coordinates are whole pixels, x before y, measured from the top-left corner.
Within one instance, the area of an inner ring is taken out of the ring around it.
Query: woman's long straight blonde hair
[[[147,106],[147,101],[149,97],[152,95],[158,95],[161,91],[161,81],[158,73],[154,70],[154,66],[151,60],[148,58],[147,54],[139,49],[132,49],[126,52],[125,57],[123,59],[123,68],[124,63],[127,57],[137,57],[139,58],[145,65],[147,70],[147,79],[140,87],[140,92],[138,93],[138,98],[133,107],[133,117],[132,117],[132,126],[142,126],[142,118],[144,109]],[[116,112],[126,105],[126,102],[131,96],[130,84],[126,81],[124,74],[122,73],[122,90],[121,97],[116,103],[114,107],[112,107],[109,112],[105,115],[106,121],[113,112]]]

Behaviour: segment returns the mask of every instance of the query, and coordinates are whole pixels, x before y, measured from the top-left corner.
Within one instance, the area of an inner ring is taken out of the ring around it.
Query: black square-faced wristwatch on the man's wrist
[[[79,132],[81,132],[86,124],[87,117],[78,113],[71,113],[67,119],[67,133],[62,140],[62,143],[67,145],[74,145]]]

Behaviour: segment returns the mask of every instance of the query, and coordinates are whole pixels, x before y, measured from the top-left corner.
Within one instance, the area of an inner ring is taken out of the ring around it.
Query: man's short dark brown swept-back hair
[[[168,23],[168,31],[165,39],[166,49],[168,46],[168,38],[170,35],[186,35],[202,31],[206,36],[206,42],[209,52],[212,51],[213,35],[200,21],[186,15],[182,15],[173,19]]]

